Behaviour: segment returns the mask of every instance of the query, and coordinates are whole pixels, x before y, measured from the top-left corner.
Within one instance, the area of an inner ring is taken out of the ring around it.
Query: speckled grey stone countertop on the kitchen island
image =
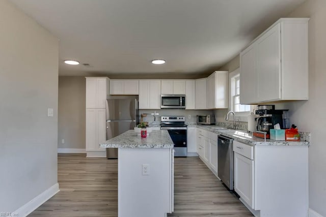
[[[154,130],[146,138],[129,130],[100,144],[102,148],[173,148],[173,142],[166,130]]]

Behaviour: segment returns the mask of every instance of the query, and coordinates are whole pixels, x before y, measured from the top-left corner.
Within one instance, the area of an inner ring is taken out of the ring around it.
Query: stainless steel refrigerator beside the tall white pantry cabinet
[[[138,97],[111,97],[106,100],[106,140],[116,137],[139,123]],[[106,148],[107,159],[118,158],[118,148]]]

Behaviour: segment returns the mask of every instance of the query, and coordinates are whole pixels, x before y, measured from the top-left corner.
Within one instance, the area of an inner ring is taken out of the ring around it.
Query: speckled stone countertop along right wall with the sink
[[[193,126],[195,127],[195,126]],[[235,141],[246,143],[248,145],[290,145],[290,146],[298,146],[298,145],[310,145],[309,140],[308,141],[297,141],[297,142],[292,142],[292,141],[276,141],[276,140],[271,140],[271,139],[266,139],[266,142],[264,139],[254,137],[252,133],[248,133],[247,131],[243,130],[215,130],[212,128],[216,127],[221,127],[221,126],[203,126],[203,125],[198,125],[196,126],[197,128],[204,129],[213,133],[221,134],[223,136],[229,137],[234,139]],[[310,133],[305,133],[309,134],[304,135],[304,138],[309,138]],[[301,136],[303,138],[303,136]]]

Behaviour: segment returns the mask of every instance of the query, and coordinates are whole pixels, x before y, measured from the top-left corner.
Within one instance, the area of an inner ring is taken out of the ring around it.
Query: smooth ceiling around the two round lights
[[[11,0],[59,38],[60,76],[199,76],[304,0]],[[163,58],[164,65],[151,64]],[[64,59],[80,61],[78,66]],[[89,64],[90,66],[84,66]]]

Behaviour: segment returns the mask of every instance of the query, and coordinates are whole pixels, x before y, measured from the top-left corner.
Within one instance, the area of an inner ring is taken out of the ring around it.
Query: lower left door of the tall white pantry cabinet
[[[96,150],[96,109],[86,109],[86,150]]]

